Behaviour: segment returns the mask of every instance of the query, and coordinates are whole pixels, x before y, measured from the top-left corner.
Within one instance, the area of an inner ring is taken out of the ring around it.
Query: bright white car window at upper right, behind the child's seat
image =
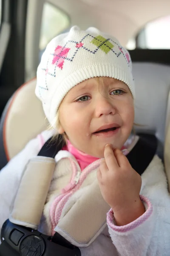
[[[170,16],[147,23],[135,38],[128,41],[127,49],[170,49]]]

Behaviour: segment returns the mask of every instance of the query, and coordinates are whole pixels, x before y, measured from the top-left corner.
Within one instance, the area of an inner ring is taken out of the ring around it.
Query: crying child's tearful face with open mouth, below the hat
[[[59,133],[65,131],[77,149],[99,158],[104,157],[106,144],[119,149],[123,146],[133,120],[130,90],[113,78],[91,78],[77,84],[59,107]]]

